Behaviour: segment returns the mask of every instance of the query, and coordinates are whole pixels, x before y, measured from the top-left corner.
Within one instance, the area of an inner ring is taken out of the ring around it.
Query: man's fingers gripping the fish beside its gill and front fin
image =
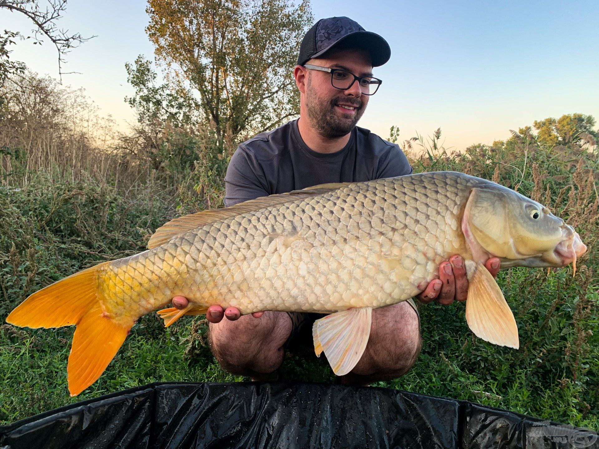
[[[500,260],[491,257],[485,262],[485,268],[497,277]],[[452,304],[453,301],[464,301],[468,295],[468,278],[464,259],[461,256],[452,256],[449,262],[441,262],[439,265],[439,278],[429,282],[428,286],[420,295],[416,296],[423,304],[428,304],[436,299],[441,304]]]

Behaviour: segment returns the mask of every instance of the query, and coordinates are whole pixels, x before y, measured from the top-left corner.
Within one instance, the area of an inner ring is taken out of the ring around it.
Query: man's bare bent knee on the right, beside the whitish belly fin
[[[407,302],[378,308],[364,354],[341,383],[359,386],[400,377],[412,368],[421,348],[418,315]]]

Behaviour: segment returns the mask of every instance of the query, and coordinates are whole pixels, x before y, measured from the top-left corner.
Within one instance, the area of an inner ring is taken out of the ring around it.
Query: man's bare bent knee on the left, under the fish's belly
[[[289,314],[265,312],[260,318],[244,315],[237,321],[210,323],[208,339],[225,371],[265,380],[283,362],[283,345],[290,333]]]

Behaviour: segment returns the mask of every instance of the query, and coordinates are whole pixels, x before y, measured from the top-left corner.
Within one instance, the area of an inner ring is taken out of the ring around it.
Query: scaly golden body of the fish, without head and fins
[[[459,213],[477,184],[387,178],[211,223],[106,265],[102,305],[128,319],[176,295],[242,314],[395,304],[435,278],[442,260],[467,253]]]

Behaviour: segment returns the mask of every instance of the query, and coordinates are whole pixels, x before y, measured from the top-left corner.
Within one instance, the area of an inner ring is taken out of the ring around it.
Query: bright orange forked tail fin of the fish
[[[134,324],[116,323],[102,311],[98,271],[104,263],[35,292],[6,318],[21,327],[77,325],[67,368],[71,396],[100,377]]]

